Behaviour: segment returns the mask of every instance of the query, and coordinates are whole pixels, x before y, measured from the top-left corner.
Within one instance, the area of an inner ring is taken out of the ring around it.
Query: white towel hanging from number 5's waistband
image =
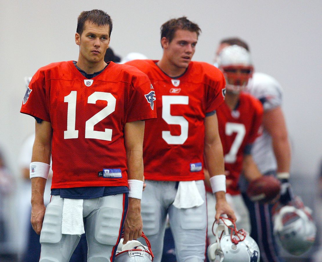
[[[199,190],[196,185],[196,181],[180,181],[177,194],[175,195],[175,201],[173,205],[176,208],[191,208],[195,206],[201,206],[204,203]]]

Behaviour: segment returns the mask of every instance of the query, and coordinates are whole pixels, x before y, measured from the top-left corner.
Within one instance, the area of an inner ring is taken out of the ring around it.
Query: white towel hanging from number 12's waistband
[[[81,236],[81,234],[85,233],[83,201],[83,199],[64,198],[62,208],[62,234]]]

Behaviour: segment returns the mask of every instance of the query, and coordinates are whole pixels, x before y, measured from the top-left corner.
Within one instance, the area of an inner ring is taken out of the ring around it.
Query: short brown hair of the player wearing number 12
[[[77,19],[77,29],[76,33],[80,35],[84,31],[85,22],[89,21],[96,25],[109,25],[109,37],[111,36],[112,28],[113,28],[113,20],[111,17],[102,10],[93,9],[90,11],[83,11],[78,16]]]

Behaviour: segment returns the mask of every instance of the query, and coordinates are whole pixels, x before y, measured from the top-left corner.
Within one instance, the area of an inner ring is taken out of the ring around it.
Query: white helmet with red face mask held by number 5
[[[211,262],[260,261],[260,250],[255,240],[245,230],[237,230],[235,222],[231,219],[220,217],[214,235],[216,242],[211,244],[207,251]]]

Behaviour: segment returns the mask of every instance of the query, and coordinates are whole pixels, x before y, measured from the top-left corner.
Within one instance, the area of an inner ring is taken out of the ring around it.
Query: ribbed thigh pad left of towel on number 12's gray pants
[[[40,243],[58,244],[62,239],[62,206],[48,205],[40,233]],[[46,260],[44,260],[45,262]],[[48,260],[51,261],[51,260]],[[56,261],[56,260],[52,260]]]

